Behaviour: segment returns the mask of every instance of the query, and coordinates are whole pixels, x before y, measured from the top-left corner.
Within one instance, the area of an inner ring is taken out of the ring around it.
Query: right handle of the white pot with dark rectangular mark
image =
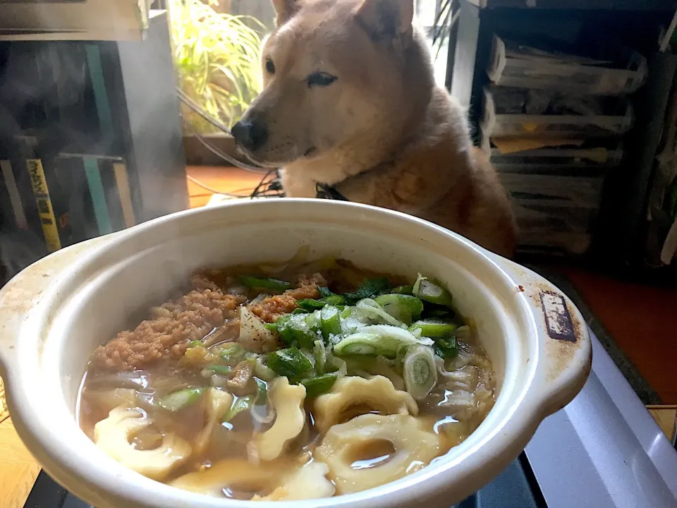
[[[580,392],[592,368],[590,330],[580,311],[563,292],[539,274],[492,255],[525,298],[539,338],[539,362],[534,386],[539,410],[548,416]]]

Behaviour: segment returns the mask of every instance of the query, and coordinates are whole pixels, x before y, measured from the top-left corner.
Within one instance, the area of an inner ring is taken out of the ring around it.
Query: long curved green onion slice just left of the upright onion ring
[[[334,351],[338,355],[382,355],[396,358],[400,349],[417,343],[416,337],[405,329],[390,325],[372,325],[348,335],[334,346]]]

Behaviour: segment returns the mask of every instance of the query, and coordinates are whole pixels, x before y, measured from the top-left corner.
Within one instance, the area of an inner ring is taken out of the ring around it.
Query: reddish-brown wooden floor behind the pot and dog
[[[241,169],[189,167],[188,174],[219,191],[251,190],[260,176]],[[211,193],[189,182],[190,206]],[[677,289],[619,282],[578,267],[559,267],[609,330],[664,404],[677,404]]]

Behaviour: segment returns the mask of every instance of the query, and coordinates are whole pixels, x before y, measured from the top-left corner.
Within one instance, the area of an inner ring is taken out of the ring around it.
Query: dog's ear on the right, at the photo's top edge
[[[405,46],[411,40],[413,0],[362,0],[355,15],[373,40],[399,39]]]

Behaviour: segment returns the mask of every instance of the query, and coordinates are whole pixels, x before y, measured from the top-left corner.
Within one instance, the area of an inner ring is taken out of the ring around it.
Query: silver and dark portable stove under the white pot
[[[677,508],[677,452],[592,338],[578,397],[503,473],[456,508]],[[91,508],[41,472],[24,508]]]

